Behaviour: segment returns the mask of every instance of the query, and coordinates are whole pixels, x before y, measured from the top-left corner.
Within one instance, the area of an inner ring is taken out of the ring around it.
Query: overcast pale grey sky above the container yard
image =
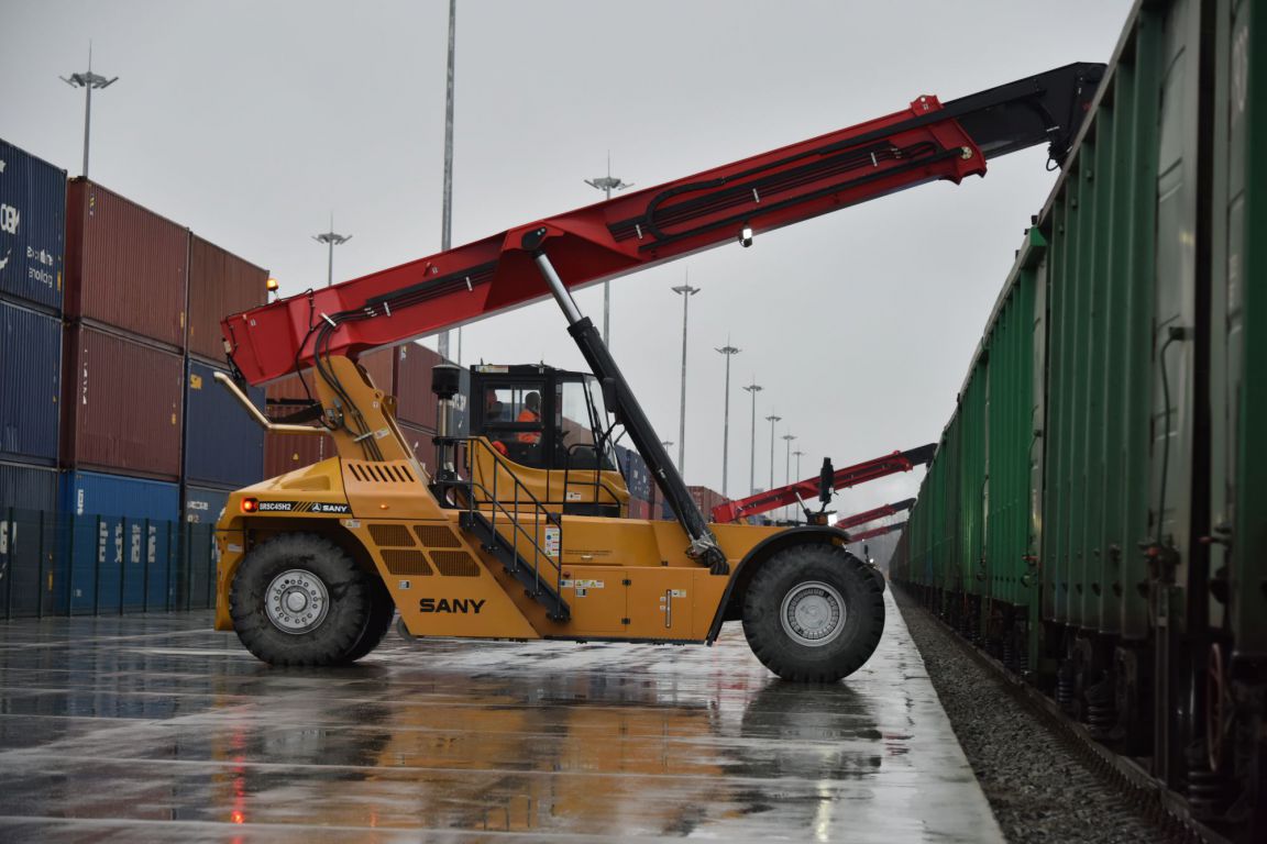
[[[905,108],[1073,61],[1107,61],[1129,0],[459,0],[454,243],[580,205],[583,180],[678,178]],[[91,176],[269,267],[284,294],[324,283],[310,235],[334,228],[336,280],[440,248],[447,1],[0,0],[0,137],[80,172],[84,96],[58,76],[119,76],[94,97]],[[612,285],[612,348],[663,439],[678,438],[680,297],[691,304],[689,483],[746,492],[749,394],[783,416],[802,475],[939,438],[1030,214],[1045,151],[721,247]],[[578,295],[602,316],[601,286]],[[435,338],[424,340],[435,347]],[[552,302],[470,325],[462,362],[580,367]],[[758,423],[758,485],[769,424]],[[674,449],[675,452],[675,449]],[[794,467],[793,467],[794,472]],[[775,482],[783,482],[778,442]],[[837,499],[914,495],[922,476]]]

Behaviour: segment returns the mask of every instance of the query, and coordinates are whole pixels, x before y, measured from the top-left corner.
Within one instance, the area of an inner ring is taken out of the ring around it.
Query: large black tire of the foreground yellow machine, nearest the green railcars
[[[780,550],[744,595],[748,644],[783,680],[848,677],[870,659],[883,631],[883,581],[836,545]]]

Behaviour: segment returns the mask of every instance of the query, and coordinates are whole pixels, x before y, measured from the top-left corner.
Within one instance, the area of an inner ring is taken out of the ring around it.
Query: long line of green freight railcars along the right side
[[[1267,6],[1139,4],[892,564],[1243,840],[1267,840],[1261,151]]]

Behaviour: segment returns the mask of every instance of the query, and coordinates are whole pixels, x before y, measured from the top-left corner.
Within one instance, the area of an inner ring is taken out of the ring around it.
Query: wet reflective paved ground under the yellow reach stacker
[[[892,601],[846,682],[713,648],[404,642],[274,669],[208,614],[0,625],[0,840],[991,841]]]

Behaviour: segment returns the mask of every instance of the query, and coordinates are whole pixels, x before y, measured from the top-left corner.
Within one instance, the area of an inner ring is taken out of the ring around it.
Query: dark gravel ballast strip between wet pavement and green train
[[[893,590],[929,677],[1009,841],[1173,840],[1125,805],[1071,740],[1029,712],[945,625]]]

